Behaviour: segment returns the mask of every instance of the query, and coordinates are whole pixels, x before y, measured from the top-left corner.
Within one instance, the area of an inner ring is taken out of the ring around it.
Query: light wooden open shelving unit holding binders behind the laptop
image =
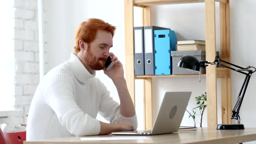
[[[144,129],[152,128],[152,79],[157,77],[185,77],[198,75],[167,75],[167,76],[135,76],[133,51],[133,7],[142,8],[142,26],[150,26],[150,6],[159,4],[205,3],[206,28],[206,61],[212,62],[216,56],[216,26],[215,2],[220,8],[220,54],[224,61],[230,62],[230,21],[229,0],[124,0],[125,5],[125,56],[126,56],[126,82],[135,102],[135,79],[143,80],[144,100]],[[222,94],[222,123],[231,123],[231,88],[230,70],[224,68],[207,67],[207,125],[216,128],[217,125],[217,82],[221,79]]]

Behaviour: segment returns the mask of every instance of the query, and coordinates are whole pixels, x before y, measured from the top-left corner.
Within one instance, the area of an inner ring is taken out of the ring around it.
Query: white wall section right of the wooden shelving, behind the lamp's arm
[[[247,67],[256,66],[256,1],[231,1],[230,25],[231,25],[231,62]],[[243,13],[241,13],[243,11]],[[256,77],[251,77],[245,99],[240,111],[241,122],[245,127],[256,127],[255,117],[255,93]],[[231,73],[232,102],[235,103],[238,92],[245,76]]]

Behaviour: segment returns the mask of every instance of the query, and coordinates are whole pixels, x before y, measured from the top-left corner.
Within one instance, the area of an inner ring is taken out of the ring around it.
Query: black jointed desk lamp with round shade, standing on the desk
[[[238,69],[231,68],[228,65],[224,65],[222,63],[232,65],[232,66],[234,66]],[[222,67],[225,67],[225,68],[237,71],[238,73],[246,75],[245,81],[243,81],[243,85],[241,87],[238,98],[236,100],[236,104],[232,109],[231,119],[236,119],[237,124],[218,124],[217,125],[217,129],[245,129],[243,124],[240,124],[239,110],[240,110],[240,107],[241,107],[241,104],[242,104],[242,101],[243,101],[243,97],[245,97],[245,92],[246,92],[250,77],[252,76],[252,73],[254,73],[256,71],[256,69],[254,67],[250,67],[250,66],[247,67],[247,68],[239,67],[235,64],[223,61],[222,59],[219,58],[219,56],[216,56],[215,61],[212,62],[212,63],[207,62],[207,61],[199,62],[193,56],[184,56],[181,59],[179,59],[179,62],[178,62],[177,66],[181,67],[181,68],[200,71],[200,68],[205,68],[208,65],[220,65]],[[254,70],[251,70],[251,68],[253,68]]]

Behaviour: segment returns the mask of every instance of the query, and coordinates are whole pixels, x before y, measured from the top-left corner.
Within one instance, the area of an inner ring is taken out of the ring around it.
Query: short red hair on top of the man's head
[[[90,44],[96,37],[97,30],[107,31],[112,34],[112,37],[115,33],[115,27],[110,25],[107,22],[104,22],[100,19],[88,19],[80,23],[75,32],[75,46],[74,52],[79,52],[79,40],[84,40],[85,43]]]

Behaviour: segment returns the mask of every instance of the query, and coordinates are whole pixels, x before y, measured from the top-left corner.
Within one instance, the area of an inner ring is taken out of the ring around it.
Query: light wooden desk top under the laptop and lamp
[[[124,137],[115,135],[88,136],[88,137]],[[134,137],[134,136],[127,136]],[[210,144],[210,143],[241,143],[246,141],[256,141],[256,128],[245,130],[216,130],[197,129],[191,131],[179,131],[178,133],[147,136],[148,140],[111,140],[111,141],[81,141],[80,137],[65,137],[61,139],[45,141],[26,141],[24,144],[56,144],[56,143],[189,143],[189,144]]]

